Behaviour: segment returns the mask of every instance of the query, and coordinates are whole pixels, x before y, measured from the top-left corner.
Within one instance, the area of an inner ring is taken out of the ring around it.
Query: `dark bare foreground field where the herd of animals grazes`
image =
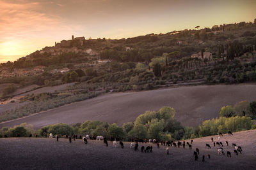
[[[88,140],[85,145],[81,139],[72,140],[54,138],[2,138],[0,139],[0,169],[255,169],[256,166],[256,130],[236,132],[233,136],[224,134],[220,141],[228,141],[224,145],[225,155],[218,155],[217,148],[212,145],[218,136],[193,139],[192,150],[166,146],[139,143],[139,150],[129,148],[125,142],[124,148],[119,144],[113,148],[103,146],[102,141]],[[190,141],[190,140],[189,140]],[[206,149],[209,143],[211,149]],[[232,143],[241,146],[242,154],[235,155]],[[141,153],[141,146],[152,145],[152,153]],[[199,159],[195,161],[193,152],[200,150]],[[231,157],[227,157],[227,151]],[[208,159],[207,155],[211,155]],[[205,162],[202,162],[205,155]]]

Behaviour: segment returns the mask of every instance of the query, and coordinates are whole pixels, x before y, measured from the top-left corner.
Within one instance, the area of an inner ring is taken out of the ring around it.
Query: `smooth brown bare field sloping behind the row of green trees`
[[[138,115],[147,110],[158,111],[163,106],[174,108],[177,111],[175,118],[182,125],[197,126],[204,120],[218,117],[222,106],[233,105],[246,99],[256,100],[255,84],[200,85],[112,93],[3,122],[0,123],[0,128],[26,122],[39,129],[49,124],[73,124],[86,120],[101,120],[122,125],[125,122],[133,122]]]

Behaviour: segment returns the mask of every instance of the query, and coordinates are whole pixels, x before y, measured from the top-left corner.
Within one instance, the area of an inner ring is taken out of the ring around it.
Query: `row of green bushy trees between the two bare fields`
[[[254,106],[255,102],[252,102]],[[238,113],[243,112],[244,101],[237,103],[235,110]],[[228,107],[229,108],[229,107]],[[245,108],[246,109],[246,108]],[[254,108],[255,109],[255,108]],[[229,113],[229,112],[228,112]],[[216,135],[219,132],[227,133],[228,131],[237,132],[249,129],[256,129],[256,124],[252,118],[246,116],[236,117],[220,117],[205,120],[198,127],[183,127],[180,122],[175,120],[175,110],[173,108],[163,107],[159,111],[146,111],[144,114],[136,118],[134,122],[128,122],[122,127],[116,124],[108,124],[99,120],[88,120],[83,124],[55,124],[42,127],[35,132],[31,125],[21,124],[13,128],[3,127],[0,129],[0,138],[4,135],[8,137],[28,137],[29,134],[37,134],[45,136],[52,133],[58,136],[72,136],[81,134],[86,136],[104,136],[110,138],[120,138],[124,141],[131,139],[159,139],[159,140],[185,140],[190,138],[198,138],[202,136]]]

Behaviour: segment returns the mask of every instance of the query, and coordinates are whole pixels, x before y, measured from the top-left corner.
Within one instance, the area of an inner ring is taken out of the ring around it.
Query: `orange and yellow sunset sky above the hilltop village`
[[[129,38],[253,22],[255,0],[0,0],[0,63],[55,41]]]

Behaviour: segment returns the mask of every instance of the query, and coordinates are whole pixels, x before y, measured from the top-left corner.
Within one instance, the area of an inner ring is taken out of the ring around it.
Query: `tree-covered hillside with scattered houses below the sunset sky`
[[[0,97],[29,85],[118,83],[116,90],[152,89],[179,81],[255,81],[256,27],[252,22],[214,25],[123,39],[68,40],[15,62],[0,64]],[[81,40],[82,41],[82,40]],[[7,83],[15,83],[8,89]],[[110,85],[115,89],[115,85]]]

